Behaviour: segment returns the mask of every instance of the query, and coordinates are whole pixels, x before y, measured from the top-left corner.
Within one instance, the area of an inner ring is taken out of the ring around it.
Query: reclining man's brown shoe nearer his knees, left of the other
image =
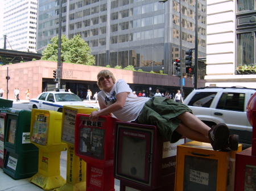
[[[221,150],[225,147],[229,138],[229,128],[226,124],[213,126],[208,132],[208,137],[213,150]]]

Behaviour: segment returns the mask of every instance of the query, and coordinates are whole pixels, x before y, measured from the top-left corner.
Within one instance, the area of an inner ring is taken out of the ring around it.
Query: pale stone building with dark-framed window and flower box
[[[255,4],[251,0],[207,1],[206,86],[255,88]]]

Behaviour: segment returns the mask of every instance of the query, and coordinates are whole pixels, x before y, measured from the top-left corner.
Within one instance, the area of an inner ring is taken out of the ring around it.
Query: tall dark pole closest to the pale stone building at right
[[[194,88],[197,89],[197,71],[198,71],[198,3],[197,3],[198,0],[196,0],[196,24],[195,24],[195,83],[194,83]]]

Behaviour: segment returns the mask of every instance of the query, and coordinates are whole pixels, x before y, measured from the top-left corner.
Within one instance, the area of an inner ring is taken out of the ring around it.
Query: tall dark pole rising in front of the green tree
[[[60,10],[59,10],[59,40],[58,40],[58,61],[57,61],[57,82],[58,87],[56,89],[60,89],[60,62],[61,62],[61,9],[62,9],[62,1],[60,1]]]

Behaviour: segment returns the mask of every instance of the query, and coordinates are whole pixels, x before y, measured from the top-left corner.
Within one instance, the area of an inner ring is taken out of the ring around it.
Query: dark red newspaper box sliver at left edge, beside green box
[[[4,142],[5,142],[5,118],[6,113],[0,113],[0,168],[3,168],[3,160],[5,160],[5,148],[4,148]]]

